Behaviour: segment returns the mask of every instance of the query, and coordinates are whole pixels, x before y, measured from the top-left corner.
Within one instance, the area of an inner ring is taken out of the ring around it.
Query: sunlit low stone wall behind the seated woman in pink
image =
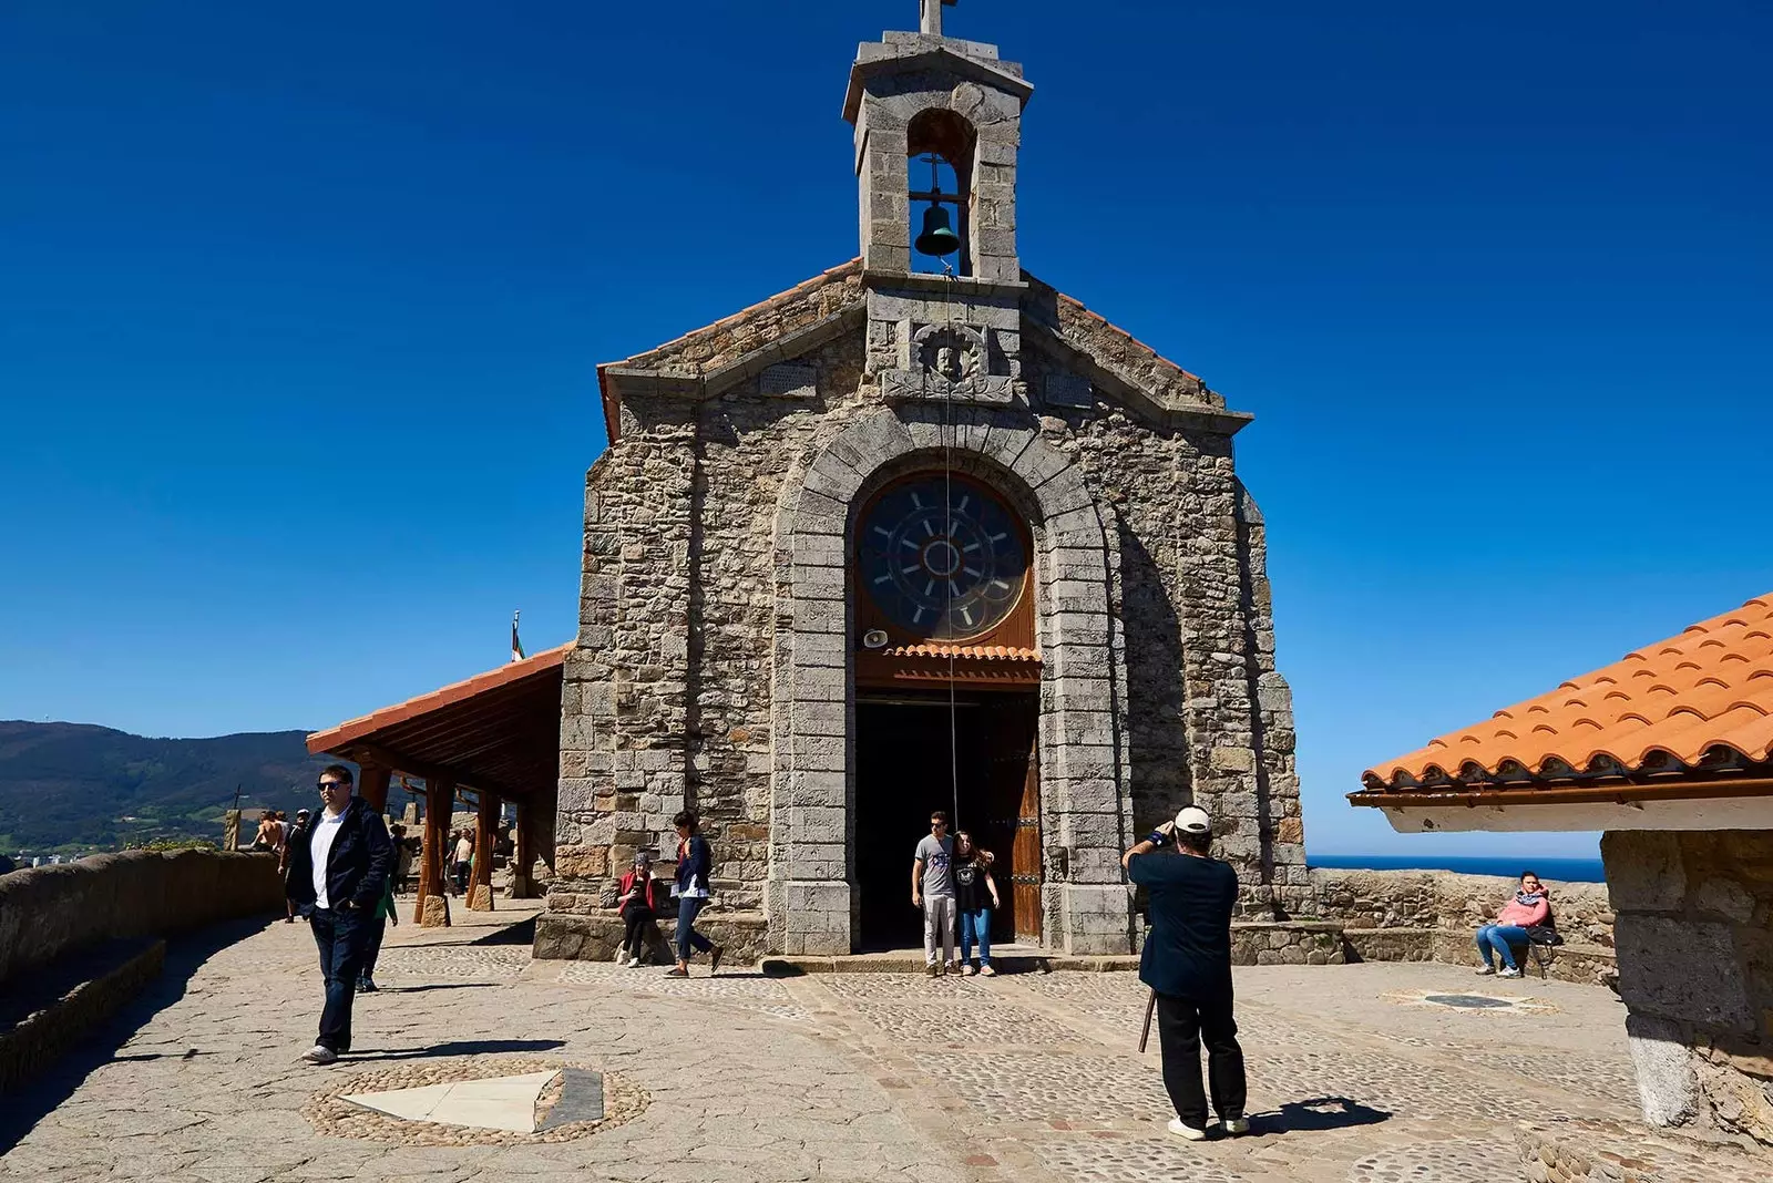
[[[1546,974],[1612,985],[1613,905],[1606,884],[1544,884],[1566,940]],[[1519,880],[1500,875],[1312,868],[1316,916],[1346,926],[1351,962],[1475,963],[1473,935],[1518,887]]]

